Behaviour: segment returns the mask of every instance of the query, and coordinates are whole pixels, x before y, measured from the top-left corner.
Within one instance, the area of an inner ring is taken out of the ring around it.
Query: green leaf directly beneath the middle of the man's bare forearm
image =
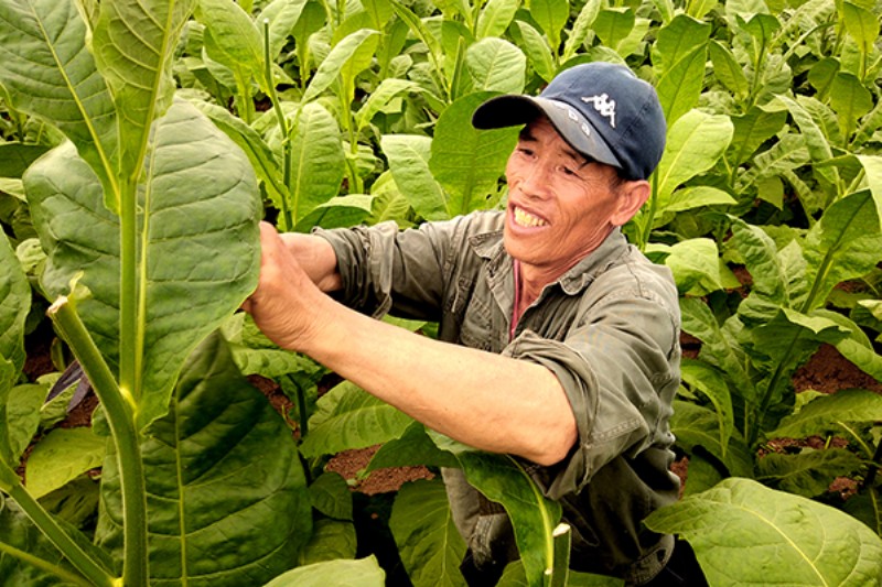
[[[365,448],[401,436],[411,422],[405,413],[344,381],[319,400],[300,452],[314,457]]]

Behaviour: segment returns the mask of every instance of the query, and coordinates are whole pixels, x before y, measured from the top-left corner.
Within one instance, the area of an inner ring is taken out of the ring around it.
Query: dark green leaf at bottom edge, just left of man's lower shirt
[[[389,518],[398,553],[415,587],[465,585],[465,541],[453,523],[441,479],[405,485]]]

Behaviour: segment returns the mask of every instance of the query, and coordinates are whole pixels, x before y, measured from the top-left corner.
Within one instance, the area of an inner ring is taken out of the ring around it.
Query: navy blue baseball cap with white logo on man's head
[[[476,129],[526,124],[545,115],[587,159],[646,180],[665,151],[667,124],[655,88],[624,65],[592,62],[555,77],[538,97],[496,96],[475,110]]]

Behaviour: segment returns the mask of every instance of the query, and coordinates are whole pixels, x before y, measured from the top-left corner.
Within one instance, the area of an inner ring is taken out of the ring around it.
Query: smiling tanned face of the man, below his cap
[[[548,280],[628,220],[613,188],[615,170],[587,162],[544,117],[521,131],[505,174],[506,250],[521,267],[533,265]]]

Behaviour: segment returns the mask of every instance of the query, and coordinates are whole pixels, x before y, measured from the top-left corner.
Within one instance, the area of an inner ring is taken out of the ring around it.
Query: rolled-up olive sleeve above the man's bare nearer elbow
[[[540,476],[549,498],[579,492],[613,458],[673,441],[678,320],[653,292],[620,290],[584,312],[563,340],[525,330],[505,350],[555,373],[576,415],[577,445]]]

